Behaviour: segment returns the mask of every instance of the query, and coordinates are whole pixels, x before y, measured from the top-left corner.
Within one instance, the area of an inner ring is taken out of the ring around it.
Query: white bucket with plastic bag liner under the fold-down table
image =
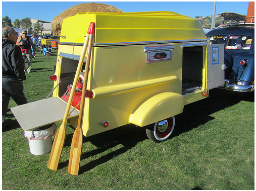
[[[25,131],[24,136],[28,138],[30,153],[42,155],[50,152],[53,145],[52,136],[55,134],[56,128],[56,125],[53,124],[32,131]]]

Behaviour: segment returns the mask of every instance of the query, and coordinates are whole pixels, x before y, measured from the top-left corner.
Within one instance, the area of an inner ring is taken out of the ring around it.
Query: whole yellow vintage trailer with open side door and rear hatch
[[[62,97],[73,83],[90,22],[95,36],[90,63],[85,58],[83,64],[90,65],[82,121],[86,137],[134,124],[145,127],[152,141],[164,141],[185,105],[224,84],[223,45],[209,45],[196,19],[173,12],[79,13],[63,21],[53,98],[11,109],[23,130],[63,119]],[[76,108],[69,116],[73,127],[78,114]]]

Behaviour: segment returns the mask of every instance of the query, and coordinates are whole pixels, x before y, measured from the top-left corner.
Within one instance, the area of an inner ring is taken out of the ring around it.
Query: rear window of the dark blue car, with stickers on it
[[[225,49],[249,50],[252,44],[251,36],[236,35],[230,36]]]

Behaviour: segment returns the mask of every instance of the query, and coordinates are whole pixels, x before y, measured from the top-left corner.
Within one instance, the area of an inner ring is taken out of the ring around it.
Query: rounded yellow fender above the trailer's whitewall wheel
[[[130,116],[130,123],[143,127],[182,113],[184,98],[174,92],[163,92],[144,102]]]

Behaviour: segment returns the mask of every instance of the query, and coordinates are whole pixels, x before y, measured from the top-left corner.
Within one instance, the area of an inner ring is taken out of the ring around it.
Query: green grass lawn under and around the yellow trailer
[[[56,55],[53,50],[50,57],[37,53],[33,58],[24,81],[28,102],[52,90]],[[9,108],[14,106],[11,100]],[[161,143],[149,141],[145,129],[133,125],[86,137],[78,176],[67,172],[74,132],[69,125],[53,171],[46,167],[49,153],[30,154],[10,111],[7,119],[3,189],[254,189],[254,93],[211,90],[208,99],[185,106],[172,138]]]

